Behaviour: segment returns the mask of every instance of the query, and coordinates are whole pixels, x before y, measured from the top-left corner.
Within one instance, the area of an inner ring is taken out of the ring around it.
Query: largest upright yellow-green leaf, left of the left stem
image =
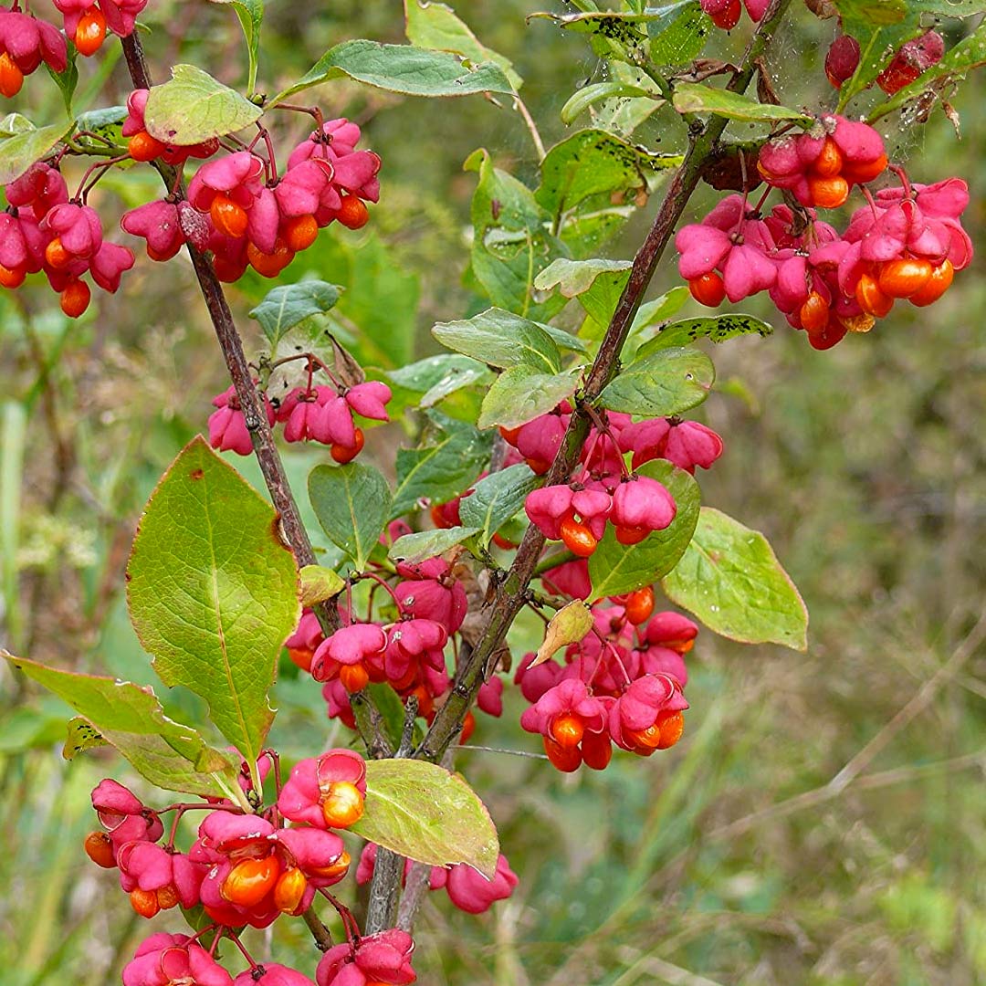
[[[254,761],[274,718],[267,692],[281,645],[301,615],[298,570],[274,509],[201,436],[144,509],[127,601],[162,681],[201,695]]]

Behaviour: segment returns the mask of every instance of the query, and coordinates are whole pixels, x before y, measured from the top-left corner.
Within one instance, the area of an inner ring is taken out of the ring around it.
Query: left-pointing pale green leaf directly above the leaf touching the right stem
[[[440,321],[432,335],[449,349],[494,367],[527,366],[556,373],[561,353],[536,322],[503,309],[487,309],[458,321]]]

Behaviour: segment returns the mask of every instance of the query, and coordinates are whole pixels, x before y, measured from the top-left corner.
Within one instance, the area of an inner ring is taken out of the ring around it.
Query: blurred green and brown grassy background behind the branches
[[[564,136],[559,108],[603,71],[585,40],[526,23],[539,9],[528,0],[454,6],[512,59],[545,142]],[[158,78],[184,60],[243,83],[229,8],[156,2],[147,22]],[[960,25],[948,27],[951,40],[960,36]],[[819,58],[833,30],[800,8],[782,32],[769,62],[788,105],[816,106],[820,93],[831,106]],[[747,33],[744,21],[719,40],[721,53],[738,58]],[[402,40],[401,5],[270,3],[261,88],[280,88],[331,44],[359,36]],[[84,66],[80,108],[121,103],[128,89],[120,64]],[[28,92],[20,108],[58,118],[60,97],[43,73]],[[434,320],[476,303],[461,282],[474,184],[461,164],[484,146],[531,181],[528,133],[509,107],[482,98],[429,103],[340,83],[317,98],[327,116],[364,127],[384,160],[383,199],[365,231],[322,234],[287,279],[314,273],[346,285],[340,312],[369,329],[362,344],[378,346],[379,365],[428,355]],[[955,96],[960,140],[940,111],[926,128],[881,121],[915,180],[968,179],[966,227],[980,249],[982,100],[977,78]],[[304,132],[294,114],[278,122],[280,146]],[[681,133],[659,113],[635,139],[672,150]],[[147,169],[101,188],[108,216],[158,194]],[[713,200],[701,192],[695,214]],[[632,255],[655,207],[652,199],[607,255]],[[618,755],[602,774],[560,776],[540,760],[460,753],[521,884],[478,918],[444,894],[429,899],[417,929],[421,982],[986,982],[981,270],[977,259],[933,308],[899,305],[869,335],[826,353],[776,313],[773,337],[716,349],[720,386],[700,416],[724,435],[727,454],[700,477],[703,497],[770,538],[809,605],[810,650],[700,635],[685,739],[650,760]],[[666,262],[652,295],[674,283]],[[246,311],[266,287],[250,276],[230,292],[248,348],[258,340]],[[3,635],[38,661],[150,683],[126,619],[123,565],[147,495],[227,383],[183,257],[161,265],[139,256],[119,294],[98,294],[78,322],[61,317],[40,284],[0,299]],[[744,309],[770,317],[762,305]],[[374,431],[369,454],[390,469],[402,437],[400,423]],[[318,458],[287,454],[300,489]],[[256,480],[251,463],[236,464]],[[520,625],[515,654],[536,633]],[[118,981],[149,930],[181,923],[163,914],[149,928],[114,875],[82,853],[95,823],[89,791],[109,773],[126,781],[125,765],[102,751],[63,761],[66,708],[6,669],[0,689],[0,980]],[[272,740],[287,755],[344,739],[328,727],[317,687],[290,664],[275,697]],[[166,701],[186,721],[201,716],[187,693]],[[498,723],[480,717],[473,741],[533,748],[517,725],[522,704],[511,697]],[[253,936],[255,951],[310,971],[302,923],[278,924],[287,927],[272,941]]]

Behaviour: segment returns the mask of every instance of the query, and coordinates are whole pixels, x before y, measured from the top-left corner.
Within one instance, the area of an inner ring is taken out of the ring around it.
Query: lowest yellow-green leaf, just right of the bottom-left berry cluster
[[[467,863],[487,880],[500,857],[476,793],[460,775],[424,760],[369,761],[366,809],[350,831],[419,863]]]

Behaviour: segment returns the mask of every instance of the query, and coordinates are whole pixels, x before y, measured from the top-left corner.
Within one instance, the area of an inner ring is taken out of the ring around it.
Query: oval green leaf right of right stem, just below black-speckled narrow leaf
[[[661,349],[638,357],[599,394],[610,411],[666,417],[702,403],[716,379],[712,361],[695,349]]]

